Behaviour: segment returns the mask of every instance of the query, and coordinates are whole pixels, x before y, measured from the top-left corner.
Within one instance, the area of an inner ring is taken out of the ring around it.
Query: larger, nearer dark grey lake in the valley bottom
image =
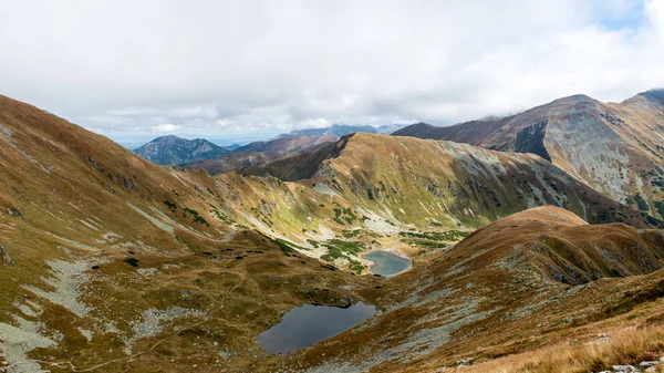
[[[347,308],[303,304],[288,311],[281,322],[258,335],[267,353],[287,354],[309,348],[355,327],[376,313],[362,302]]]

